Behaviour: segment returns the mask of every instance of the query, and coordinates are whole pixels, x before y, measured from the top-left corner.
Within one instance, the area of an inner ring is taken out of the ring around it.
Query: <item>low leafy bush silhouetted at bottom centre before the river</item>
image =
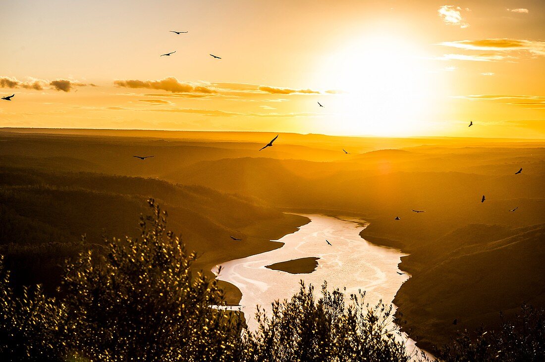
[[[259,310],[255,333],[245,335],[249,361],[408,361],[392,318],[392,306],[378,303],[369,308],[365,292],[350,296],[322,286],[315,300],[312,285],[289,302],[275,302],[268,317]]]

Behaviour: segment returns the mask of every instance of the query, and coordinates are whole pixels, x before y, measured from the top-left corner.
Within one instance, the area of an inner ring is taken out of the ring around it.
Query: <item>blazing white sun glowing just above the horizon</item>
[[[340,90],[337,134],[421,134],[432,73],[416,46],[399,36],[372,34],[334,52],[320,74]]]

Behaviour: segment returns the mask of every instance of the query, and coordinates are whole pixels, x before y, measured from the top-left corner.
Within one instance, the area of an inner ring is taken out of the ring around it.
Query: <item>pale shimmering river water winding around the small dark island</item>
[[[328,281],[329,290],[346,287],[347,294],[365,290],[366,302],[370,305],[377,304],[380,299],[390,304],[401,284],[408,279],[408,275],[396,273],[399,272],[399,258],[406,254],[363,240],[359,232],[364,226],[357,220],[314,214],[303,216],[311,222],[278,240],[284,243],[283,247],[222,264],[218,279],[234,284],[242,292],[241,310],[250,329],[257,327],[256,305],[270,314],[271,302],[289,299],[299,291],[301,279],[307,285],[313,284],[318,292],[324,280]],[[326,239],[332,246],[325,242]],[[310,256],[320,258],[316,271],[311,274],[289,274],[265,268],[272,263]],[[407,349],[410,352],[413,348],[414,342],[409,339]]]

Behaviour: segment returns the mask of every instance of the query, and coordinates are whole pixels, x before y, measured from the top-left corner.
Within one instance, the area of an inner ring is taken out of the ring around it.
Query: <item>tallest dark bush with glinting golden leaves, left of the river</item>
[[[166,231],[166,212],[148,200],[141,236],[106,240],[66,267],[72,357],[92,361],[237,360],[243,322],[215,279],[193,274],[194,253]]]

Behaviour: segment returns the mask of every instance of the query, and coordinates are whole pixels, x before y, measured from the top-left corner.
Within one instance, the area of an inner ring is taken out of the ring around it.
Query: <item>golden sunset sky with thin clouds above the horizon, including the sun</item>
[[[545,138],[543,0],[0,0],[0,14],[0,95],[15,94],[0,127]]]

